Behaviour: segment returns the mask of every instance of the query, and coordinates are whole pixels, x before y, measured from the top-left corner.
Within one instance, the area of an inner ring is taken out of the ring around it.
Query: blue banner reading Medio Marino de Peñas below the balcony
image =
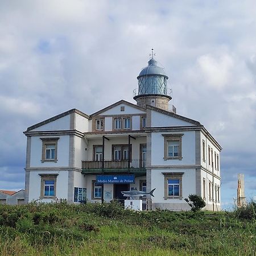
[[[97,175],[96,184],[129,184],[135,183],[135,175]]]

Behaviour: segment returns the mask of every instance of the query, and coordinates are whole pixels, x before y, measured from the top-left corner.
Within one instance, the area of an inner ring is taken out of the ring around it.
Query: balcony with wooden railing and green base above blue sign
[[[82,174],[135,174],[146,175],[146,160],[82,160]]]

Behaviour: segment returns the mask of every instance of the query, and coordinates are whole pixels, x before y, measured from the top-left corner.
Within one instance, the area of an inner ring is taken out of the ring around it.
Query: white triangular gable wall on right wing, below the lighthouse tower
[[[170,117],[169,115],[151,111],[151,126],[152,127],[168,127],[168,126],[192,126],[192,123],[183,121],[178,118]]]

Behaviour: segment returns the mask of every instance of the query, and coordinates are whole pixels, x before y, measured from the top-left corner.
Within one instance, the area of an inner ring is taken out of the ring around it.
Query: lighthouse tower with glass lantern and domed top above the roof
[[[148,66],[143,68],[137,77],[139,85],[138,89],[134,90],[133,98],[142,108],[151,105],[168,111],[168,104],[172,98],[171,90],[167,88],[168,76],[164,72],[164,68],[158,66],[153,50]]]

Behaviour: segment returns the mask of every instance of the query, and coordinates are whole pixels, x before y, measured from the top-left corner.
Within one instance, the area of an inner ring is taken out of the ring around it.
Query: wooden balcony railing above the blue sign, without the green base
[[[146,160],[133,159],[129,160],[82,160],[82,169],[134,169],[145,168]]]

